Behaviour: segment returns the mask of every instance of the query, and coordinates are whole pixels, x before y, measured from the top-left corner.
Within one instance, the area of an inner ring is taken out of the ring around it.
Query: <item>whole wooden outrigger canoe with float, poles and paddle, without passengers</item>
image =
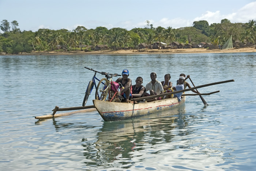
[[[227,82],[233,82],[234,79],[227,80],[227,81],[221,81],[221,82],[215,82],[215,83],[209,83],[205,85],[195,86],[190,89],[180,90],[176,92],[170,92],[165,93],[165,96],[168,96],[170,94],[176,94],[180,92],[187,92],[194,89],[211,86],[211,85],[217,85]],[[198,91],[197,91],[198,92]],[[172,108],[175,108],[177,106],[183,105],[185,103],[185,96],[200,96],[202,101],[204,102],[202,96],[203,95],[210,95],[216,92],[211,93],[204,93],[204,94],[182,94],[181,101],[178,102],[177,98],[167,98],[163,100],[157,100],[157,101],[150,101],[148,99],[152,99],[155,97],[161,97],[163,94],[158,94],[155,96],[148,96],[148,97],[140,97],[132,99],[131,102],[124,102],[124,103],[118,103],[118,102],[109,102],[109,101],[100,101],[100,100],[93,100],[94,105],[90,106],[79,106],[79,107],[71,107],[71,108],[59,108],[56,106],[53,109],[53,114],[50,115],[44,115],[44,116],[37,116],[35,117],[38,120],[41,119],[48,119],[53,117],[60,117],[60,116],[67,116],[74,113],[82,113],[82,112],[89,112],[94,111],[95,108],[98,111],[98,113],[101,115],[104,121],[117,121],[117,120],[125,120],[133,117],[139,117],[146,114],[151,114],[155,112],[161,112],[164,110],[171,110]],[[148,100],[148,101],[146,101]],[[204,102],[205,104],[206,102]],[[207,104],[207,103],[206,103]],[[83,110],[81,110],[83,109]],[[69,113],[62,113],[62,114],[55,114],[57,111],[65,111],[65,110],[80,110],[79,112],[69,112]]]

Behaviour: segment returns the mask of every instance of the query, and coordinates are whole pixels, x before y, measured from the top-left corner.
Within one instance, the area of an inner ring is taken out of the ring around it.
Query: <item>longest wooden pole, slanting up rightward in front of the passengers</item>
[[[190,89],[185,89],[185,90],[179,90],[176,92],[170,92],[170,93],[164,93],[164,94],[158,94],[158,95],[154,95],[154,96],[148,96],[148,97],[140,97],[140,98],[133,98],[133,101],[140,101],[140,100],[147,100],[147,99],[151,99],[151,98],[155,98],[155,97],[162,97],[162,96],[168,96],[170,94],[176,94],[176,93],[181,93],[181,92],[187,92],[187,91],[191,91],[194,89],[199,89],[202,87],[207,87],[207,86],[211,86],[211,85],[217,85],[217,84],[222,84],[222,83],[227,83],[227,82],[233,82],[235,81],[234,79],[230,79],[230,80],[226,80],[226,81],[221,81],[221,82],[214,82],[214,83],[209,83],[209,84],[204,84],[204,85],[200,85],[200,86],[196,86]]]

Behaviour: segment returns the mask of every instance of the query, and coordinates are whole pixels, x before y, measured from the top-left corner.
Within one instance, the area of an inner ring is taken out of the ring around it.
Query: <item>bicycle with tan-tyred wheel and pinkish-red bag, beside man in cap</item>
[[[118,89],[124,88],[121,83],[113,82],[112,78],[121,76],[118,74],[102,73],[106,78],[102,78],[97,86],[95,99],[100,97],[102,101],[108,100],[113,102],[121,102],[122,96],[118,96]],[[100,96],[99,96],[100,95]]]

